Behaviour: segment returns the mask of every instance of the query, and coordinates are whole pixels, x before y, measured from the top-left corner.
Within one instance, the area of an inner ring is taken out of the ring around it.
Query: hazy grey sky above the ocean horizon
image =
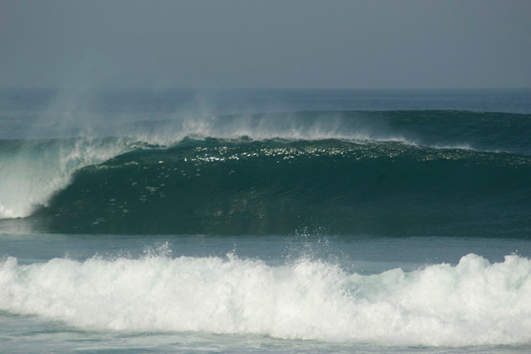
[[[531,1],[0,1],[0,86],[531,87]]]

